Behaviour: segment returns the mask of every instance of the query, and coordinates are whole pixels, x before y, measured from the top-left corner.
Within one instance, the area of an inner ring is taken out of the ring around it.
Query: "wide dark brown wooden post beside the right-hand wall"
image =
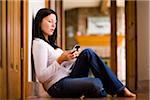
[[[136,1],[125,1],[126,83],[137,89],[137,20]]]

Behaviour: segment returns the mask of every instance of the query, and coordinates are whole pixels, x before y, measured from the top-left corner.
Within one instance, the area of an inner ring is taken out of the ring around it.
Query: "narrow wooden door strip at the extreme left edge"
[[[6,2],[0,1],[0,100],[7,97],[6,69]]]

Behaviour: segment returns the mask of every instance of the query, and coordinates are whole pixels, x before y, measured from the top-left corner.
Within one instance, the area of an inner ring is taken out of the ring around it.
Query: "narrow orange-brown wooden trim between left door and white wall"
[[[27,97],[28,94],[28,1],[22,1],[22,48],[23,48],[23,62],[22,62],[22,97]]]

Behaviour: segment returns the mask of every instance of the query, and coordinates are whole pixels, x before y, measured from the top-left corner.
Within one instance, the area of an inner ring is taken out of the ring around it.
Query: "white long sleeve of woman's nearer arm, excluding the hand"
[[[55,59],[48,65],[48,49],[44,43],[33,44],[33,58],[36,76],[42,83],[50,79],[61,68]]]

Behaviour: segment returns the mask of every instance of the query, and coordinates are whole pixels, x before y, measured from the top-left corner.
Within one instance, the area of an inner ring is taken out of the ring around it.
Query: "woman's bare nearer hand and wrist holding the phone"
[[[71,51],[64,51],[60,57],[58,57],[57,62],[61,64],[63,61],[72,60],[75,55]]]

